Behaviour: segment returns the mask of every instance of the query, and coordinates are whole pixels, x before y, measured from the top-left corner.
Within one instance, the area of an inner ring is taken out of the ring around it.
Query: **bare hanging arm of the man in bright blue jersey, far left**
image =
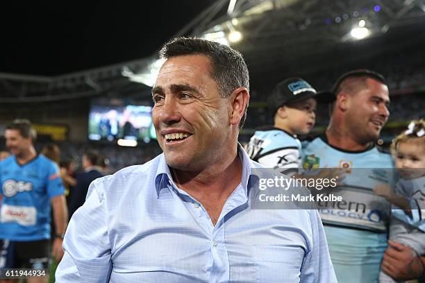
[[[51,255],[60,261],[63,257],[63,235],[67,228],[68,212],[65,196],[53,196],[51,198],[51,207],[53,207],[53,220],[55,221],[56,236],[53,239],[51,246]]]

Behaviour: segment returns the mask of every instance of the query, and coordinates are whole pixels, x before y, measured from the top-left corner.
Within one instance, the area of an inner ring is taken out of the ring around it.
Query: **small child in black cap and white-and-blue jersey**
[[[301,167],[301,143],[315,126],[316,90],[302,78],[278,83],[267,104],[274,115],[274,126],[256,130],[247,146],[252,160],[282,173],[296,173]]]

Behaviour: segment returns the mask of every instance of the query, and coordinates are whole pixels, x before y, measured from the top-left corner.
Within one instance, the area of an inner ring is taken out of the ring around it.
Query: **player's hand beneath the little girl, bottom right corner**
[[[383,256],[381,268],[394,280],[410,280],[421,277],[424,273],[421,259],[408,246],[394,241],[388,241],[387,250]]]

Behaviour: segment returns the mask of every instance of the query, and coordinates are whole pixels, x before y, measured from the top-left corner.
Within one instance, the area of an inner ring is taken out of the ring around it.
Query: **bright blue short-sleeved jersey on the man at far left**
[[[0,239],[50,239],[50,199],[64,194],[58,166],[38,155],[19,165],[15,156],[0,162]]]

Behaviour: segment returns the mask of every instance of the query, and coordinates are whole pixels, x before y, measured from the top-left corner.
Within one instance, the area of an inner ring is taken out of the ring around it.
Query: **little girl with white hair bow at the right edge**
[[[394,191],[386,185],[374,188],[375,194],[392,203],[390,240],[425,254],[425,121],[412,121],[408,130],[392,142],[400,179]],[[381,271],[379,282],[400,282]]]

